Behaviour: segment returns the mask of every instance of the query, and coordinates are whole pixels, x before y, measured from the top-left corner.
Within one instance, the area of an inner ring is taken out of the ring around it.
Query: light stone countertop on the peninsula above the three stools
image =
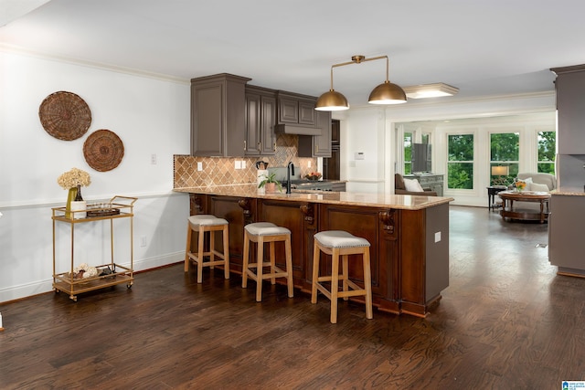
[[[256,184],[174,188],[173,191],[190,194],[241,196],[292,202],[326,203],[332,205],[391,207],[406,210],[420,210],[446,203],[448,204],[454,200],[452,197],[442,196],[390,195],[311,190],[293,190],[293,194],[278,192],[274,194],[263,194],[259,191]]]

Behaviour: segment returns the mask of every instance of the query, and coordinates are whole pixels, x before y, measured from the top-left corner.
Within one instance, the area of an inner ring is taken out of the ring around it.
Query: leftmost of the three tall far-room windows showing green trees
[[[473,189],[473,134],[448,137],[447,188]]]

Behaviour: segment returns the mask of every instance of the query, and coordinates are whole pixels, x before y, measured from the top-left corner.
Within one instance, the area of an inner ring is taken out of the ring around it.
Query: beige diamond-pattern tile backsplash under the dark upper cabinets
[[[201,187],[208,185],[229,185],[256,183],[256,162],[264,161],[269,167],[286,166],[292,161],[300,168],[301,177],[313,172],[316,158],[298,156],[298,136],[280,134],[276,139],[276,153],[261,157],[197,157],[175,154],[173,160],[173,187]],[[237,163],[245,168],[236,169]],[[197,163],[202,170],[197,171]],[[311,164],[311,167],[309,167]]]

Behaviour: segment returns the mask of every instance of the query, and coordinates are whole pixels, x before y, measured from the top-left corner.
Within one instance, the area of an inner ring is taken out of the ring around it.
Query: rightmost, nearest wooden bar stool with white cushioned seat
[[[331,275],[319,276],[320,251],[331,255]],[[347,259],[349,255],[362,255],[364,264],[364,289],[348,278]],[[342,274],[339,274],[339,257],[342,258]],[[343,281],[343,290],[339,290],[339,280]],[[331,290],[327,290],[320,282],[330,281]],[[350,290],[351,288],[351,290]],[[356,237],[343,230],[326,230],[314,235],[313,250],[313,286],[311,303],[317,303],[317,290],[331,300],[331,323],[337,323],[337,299],[366,296],[366,318],[374,318],[372,312],[372,282],[369,267],[369,242],[366,238]]]

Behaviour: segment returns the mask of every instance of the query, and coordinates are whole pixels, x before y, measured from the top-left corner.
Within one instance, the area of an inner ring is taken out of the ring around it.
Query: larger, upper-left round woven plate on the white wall
[[[48,95],[38,109],[43,128],[63,141],[77,140],[90,128],[91,111],[85,100],[71,92]]]

